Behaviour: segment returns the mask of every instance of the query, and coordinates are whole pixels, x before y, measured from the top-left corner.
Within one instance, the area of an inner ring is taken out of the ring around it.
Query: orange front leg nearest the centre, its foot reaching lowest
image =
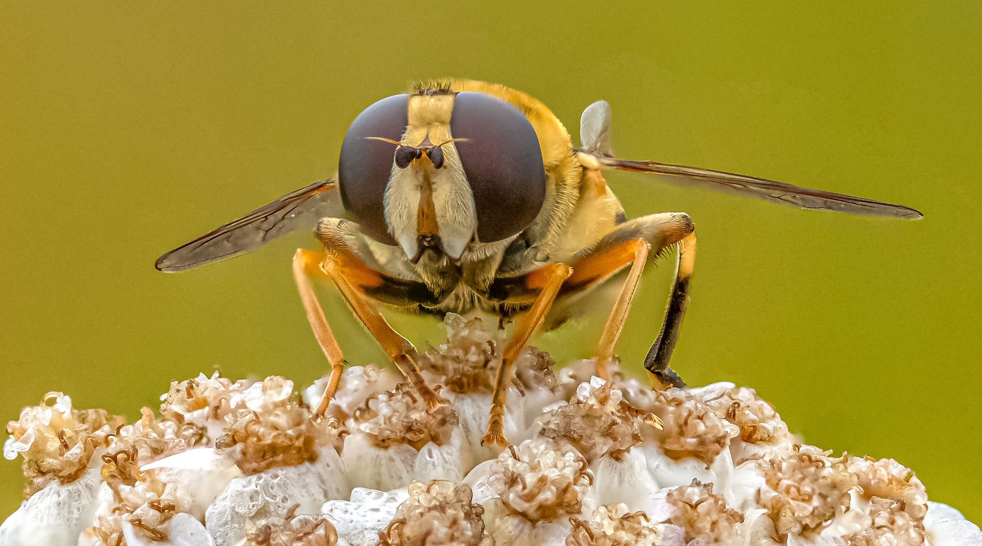
[[[564,263],[551,263],[540,269],[536,269],[523,277],[524,284],[529,289],[540,289],[539,295],[535,298],[528,312],[521,317],[518,327],[512,333],[512,338],[508,340],[508,345],[502,352],[501,365],[498,367],[498,375],[494,383],[494,395],[491,397],[491,417],[488,419],[487,434],[481,439],[481,445],[498,444],[508,445],[505,439],[505,399],[508,395],[508,387],[512,384],[512,364],[521,354],[528,338],[532,332],[542,324],[546,313],[552,307],[553,300],[559,294],[563,282],[570,277],[573,270]]]

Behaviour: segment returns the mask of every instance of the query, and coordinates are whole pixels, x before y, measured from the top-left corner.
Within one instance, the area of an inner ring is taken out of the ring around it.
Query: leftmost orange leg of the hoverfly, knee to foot
[[[345,369],[345,356],[341,353],[338,340],[331,332],[331,326],[324,317],[324,309],[314,295],[313,287],[310,284],[311,277],[323,278],[324,272],[320,269],[320,262],[323,261],[324,252],[312,252],[298,248],[294,254],[294,280],[297,282],[297,289],[300,291],[300,301],[303,302],[303,309],[306,311],[307,321],[313,329],[313,337],[317,340],[320,350],[327,356],[327,361],[331,364],[331,377],[327,382],[327,389],[320,399],[320,404],[314,410],[314,417],[321,417],[327,411],[327,405],[334,398],[338,391],[338,383],[341,381],[341,372]]]

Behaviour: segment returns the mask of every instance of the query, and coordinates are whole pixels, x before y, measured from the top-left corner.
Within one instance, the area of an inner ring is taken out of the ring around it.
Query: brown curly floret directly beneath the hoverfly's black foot
[[[655,395],[654,412],[663,422],[657,435],[662,452],[674,461],[694,458],[709,466],[729,444],[733,425],[699,396],[681,389],[660,391]]]

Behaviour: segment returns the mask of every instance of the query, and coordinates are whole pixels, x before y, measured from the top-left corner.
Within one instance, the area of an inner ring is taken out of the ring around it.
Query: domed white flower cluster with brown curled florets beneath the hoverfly
[[[0,546],[955,546],[982,531],[891,460],[800,443],[730,383],[653,390],[526,349],[512,445],[481,446],[501,332],[449,314],[419,355],[427,409],[373,365],[327,415],[279,376],[171,384],[140,418],[51,393],[11,421],[26,501]]]

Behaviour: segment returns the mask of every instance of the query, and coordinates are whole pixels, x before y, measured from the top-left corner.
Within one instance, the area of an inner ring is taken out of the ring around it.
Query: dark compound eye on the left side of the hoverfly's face
[[[345,210],[361,228],[361,233],[397,246],[385,223],[383,199],[389,185],[396,146],[370,136],[400,141],[409,125],[409,95],[393,95],[372,104],[358,114],[341,144],[338,161],[338,189]]]

